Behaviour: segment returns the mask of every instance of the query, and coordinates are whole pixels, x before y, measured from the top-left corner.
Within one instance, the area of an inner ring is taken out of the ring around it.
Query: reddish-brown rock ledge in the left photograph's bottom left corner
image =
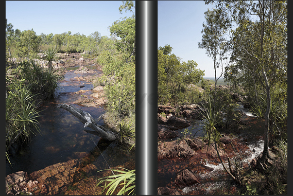
[[[56,195],[68,190],[85,174],[94,174],[97,167],[74,159],[56,163],[31,174],[19,171],[6,176],[6,194]]]

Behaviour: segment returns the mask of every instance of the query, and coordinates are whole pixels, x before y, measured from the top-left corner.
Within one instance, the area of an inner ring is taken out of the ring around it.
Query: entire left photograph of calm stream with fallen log
[[[7,195],[135,195],[135,1],[6,1]]]

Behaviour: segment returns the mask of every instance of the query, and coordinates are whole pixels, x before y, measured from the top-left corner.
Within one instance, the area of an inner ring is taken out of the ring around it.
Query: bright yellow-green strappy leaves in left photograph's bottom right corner
[[[127,170],[124,168],[121,168],[123,170],[116,170],[113,169],[113,172],[118,172],[119,174],[103,177],[97,179],[97,186],[105,183],[103,185],[103,192],[107,190],[106,195],[113,195],[113,193],[118,189],[121,188],[120,191],[116,195],[135,195],[135,179],[136,174],[135,170]],[[101,170],[105,171],[105,170]],[[98,172],[101,172],[98,171]],[[102,193],[103,193],[102,192]],[[102,194],[101,193],[101,194]]]

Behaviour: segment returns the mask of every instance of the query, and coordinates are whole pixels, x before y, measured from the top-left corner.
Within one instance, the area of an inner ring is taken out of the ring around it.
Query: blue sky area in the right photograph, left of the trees
[[[214,64],[205,49],[198,48],[202,38],[205,11],[214,5],[205,5],[203,0],[158,1],[158,47],[169,44],[182,61],[194,60],[205,77],[214,77]],[[217,69],[217,77],[221,70]]]

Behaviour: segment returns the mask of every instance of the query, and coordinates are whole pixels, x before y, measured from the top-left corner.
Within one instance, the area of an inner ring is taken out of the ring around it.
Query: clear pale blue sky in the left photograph
[[[6,1],[6,18],[13,29],[34,29],[44,33],[80,33],[89,36],[98,31],[110,36],[108,27],[121,17],[132,13],[119,13],[122,1]]]

